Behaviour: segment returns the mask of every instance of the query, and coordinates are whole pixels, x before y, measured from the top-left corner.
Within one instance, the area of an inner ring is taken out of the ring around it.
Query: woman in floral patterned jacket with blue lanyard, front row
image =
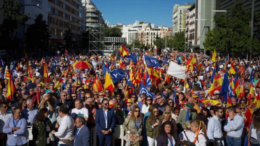
[[[126,145],[140,146],[142,142],[141,133],[143,126],[140,111],[140,108],[135,106],[131,111],[131,115],[127,116],[123,123],[123,129],[126,132],[124,136],[125,141],[127,141]]]

